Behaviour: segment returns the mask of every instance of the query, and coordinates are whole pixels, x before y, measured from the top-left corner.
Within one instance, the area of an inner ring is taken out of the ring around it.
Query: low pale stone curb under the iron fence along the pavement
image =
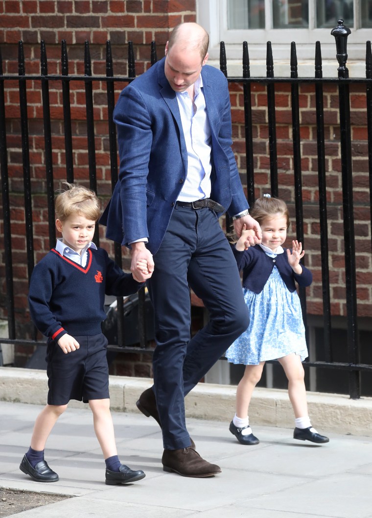
[[[139,395],[152,385],[149,378],[110,376],[111,410],[138,412]],[[45,370],[0,367],[0,400],[45,405],[48,383]],[[234,415],[236,386],[199,383],[185,398],[188,418],[226,421]],[[372,437],[372,398],[307,393],[311,423],[323,432]],[[70,401],[71,408],[88,408]],[[253,425],[293,428],[294,416],[285,390],[257,388],[249,411]]]

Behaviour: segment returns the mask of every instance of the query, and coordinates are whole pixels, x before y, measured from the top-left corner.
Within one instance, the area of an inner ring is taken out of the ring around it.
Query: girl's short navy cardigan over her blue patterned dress
[[[286,250],[285,248],[284,253],[278,254],[276,257],[269,257],[258,244],[243,252],[236,250],[235,245],[232,246],[237,267],[239,270],[243,270],[243,286],[254,293],[261,293],[274,266],[279,270],[280,276],[290,292],[294,292],[296,289],[294,281],[300,286],[310,286],[313,282],[311,271],[300,264],[302,274],[295,274],[288,263]]]

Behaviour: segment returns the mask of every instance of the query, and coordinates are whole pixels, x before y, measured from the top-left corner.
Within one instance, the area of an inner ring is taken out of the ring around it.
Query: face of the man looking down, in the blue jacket
[[[174,45],[168,52],[166,45],[166,61],[164,71],[172,90],[185,92],[200,76],[201,68],[208,60],[208,54],[201,61],[198,49],[180,52]]]

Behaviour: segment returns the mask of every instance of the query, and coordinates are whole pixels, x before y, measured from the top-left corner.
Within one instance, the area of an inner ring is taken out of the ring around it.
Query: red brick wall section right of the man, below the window
[[[230,84],[233,121],[233,149],[238,167],[245,169],[245,139],[242,107],[243,88]],[[366,95],[362,85],[350,87],[353,199],[355,218],[356,282],[358,316],[372,315],[372,264],[369,208],[368,141]],[[269,132],[267,97],[263,84],[252,84],[252,121],[256,196],[270,193]],[[279,197],[294,200],[292,114],[290,85],[277,84],[275,115],[278,155]],[[319,238],[318,157],[314,85],[300,86],[300,124],[304,204],[305,260],[314,276],[307,289],[307,311],[321,315],[322,284]],[[324,138],[326,195],[328,204],[330,295],[333,315],[346,315],[343,194],[339,142],[338,91],[336,85],[324,86]],[[294,205],[289,204],[294,219]],[[295,225],[289,230],[287,246],[295,238]]]

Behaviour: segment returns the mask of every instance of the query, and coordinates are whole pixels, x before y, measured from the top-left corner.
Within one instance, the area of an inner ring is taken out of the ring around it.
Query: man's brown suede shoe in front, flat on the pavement
[[[164,450],[161,462],[164,471],[174,471],[183,477],[213,477],[221,472],[219,466],[204,461],[192,448]]]

